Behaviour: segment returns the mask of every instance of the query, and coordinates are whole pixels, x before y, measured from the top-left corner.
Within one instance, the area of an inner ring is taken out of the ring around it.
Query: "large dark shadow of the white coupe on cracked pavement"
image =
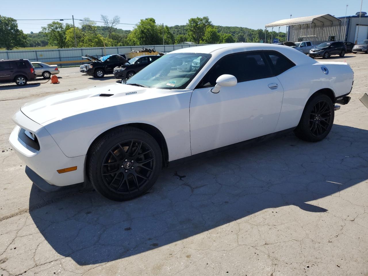
[[[295,206],[304,218],[339,212],[318,200],[368,179],[367,143],[367,130],[343,125],[334,125],[318,143],[287,134],[166,168],[151,191],[127,202],[77,190],[57,199],[57,193],[33,185],[30,214],[58,254],[79,265],[109,262],[247,221],[258,212],[281,216],[282,222],[296,216]],[[40,198],[49,204],[34,208]],[[283,214],[269,210],[283,206]]]

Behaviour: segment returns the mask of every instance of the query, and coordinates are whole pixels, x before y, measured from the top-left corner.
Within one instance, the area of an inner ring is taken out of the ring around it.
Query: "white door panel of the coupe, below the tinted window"
[[[266,80],[266,81],[265,81]],[[274,132],[279,120],[283,88],[276,77],[223,87],[195,89],[190,103],[192,154]],[[244,127],[240,127],[243,125]]]

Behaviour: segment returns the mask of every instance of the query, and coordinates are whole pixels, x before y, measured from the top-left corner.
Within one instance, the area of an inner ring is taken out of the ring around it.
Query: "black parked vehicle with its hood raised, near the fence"
[[[99,59],[86,54],[82,58],[88,59],[91,63],[81,65],[79,71],[95,78],[103,78],[105,74],[113,74],[116,66],[121,66],[128,62],[124,54],[109,54]]]

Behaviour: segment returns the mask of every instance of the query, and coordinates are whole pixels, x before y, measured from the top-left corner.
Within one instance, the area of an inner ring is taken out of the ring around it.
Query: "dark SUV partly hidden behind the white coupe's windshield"
[[[114,68],[114,78],[116,79],[128,79],[137,72],[141,71],[144,67],[157,60],[160,56],[137,56],[133,57],[127,63]]]

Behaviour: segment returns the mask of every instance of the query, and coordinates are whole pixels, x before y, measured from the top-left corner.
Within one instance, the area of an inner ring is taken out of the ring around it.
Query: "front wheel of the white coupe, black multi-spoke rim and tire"
[[[130,200],[147,192],[161,169],[158,143],[138,128],[107,132],[89,153],[88,176],[93,188],[114,201]]]

